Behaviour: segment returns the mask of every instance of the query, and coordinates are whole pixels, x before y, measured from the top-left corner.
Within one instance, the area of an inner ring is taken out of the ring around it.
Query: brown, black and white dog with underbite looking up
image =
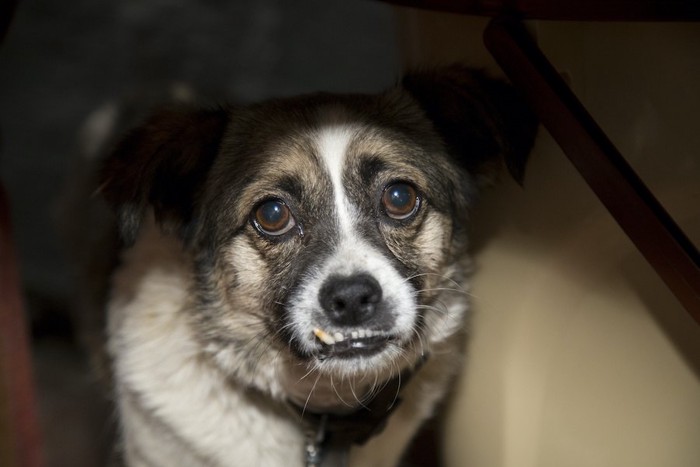
[[[463,359],[469,214],[537,123],[451,66],[157,112],[105,161],[128,466],[392,466]]]

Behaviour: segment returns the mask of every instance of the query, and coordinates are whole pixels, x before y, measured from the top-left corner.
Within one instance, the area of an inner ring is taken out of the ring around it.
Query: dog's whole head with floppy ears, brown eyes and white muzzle
[[[378,95],[162,112],[103,191],[127,242],[149,211],[182,239],[192,327],[226,372],[381,381],[460,329],[470,206],[501,165],[522,176],[535,128],[507,85],[452,67]]]

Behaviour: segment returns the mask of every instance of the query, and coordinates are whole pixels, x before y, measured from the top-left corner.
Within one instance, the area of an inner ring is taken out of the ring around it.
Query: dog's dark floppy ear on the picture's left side
[[[117,145],[99,191],[115,210],[126,244],[136,240],[148,208],[164,230],[185,235],[228,121],[225,109],[165,110]]]

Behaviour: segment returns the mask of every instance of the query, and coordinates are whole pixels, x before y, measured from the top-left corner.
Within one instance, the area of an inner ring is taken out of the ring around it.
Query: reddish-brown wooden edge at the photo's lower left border
[[[9,430],[4,440],[7,467],[39,467],[42,452],[32,381],[27,325],[23,313],[17,258],[10,233],[7,196],[0,184],[0,424]],[[5,464],[3,464],[5,465]]]

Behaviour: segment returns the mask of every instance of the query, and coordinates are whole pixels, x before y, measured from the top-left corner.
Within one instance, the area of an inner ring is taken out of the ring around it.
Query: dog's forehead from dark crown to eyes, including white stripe
[[[394,118],[369,100],[362,107],[354,99],[286,104],[254,108],[232,122],[205,201],[214,230],[223,228],[223,218],[241,229],[255,206],[278,198],[307,222],[333,219],[325,223],[329,228],[351,231],[358,216],[374,215],[383,186],[397,180],[412,182],[432,205],[449,209],[453,170],[420,114]]]

